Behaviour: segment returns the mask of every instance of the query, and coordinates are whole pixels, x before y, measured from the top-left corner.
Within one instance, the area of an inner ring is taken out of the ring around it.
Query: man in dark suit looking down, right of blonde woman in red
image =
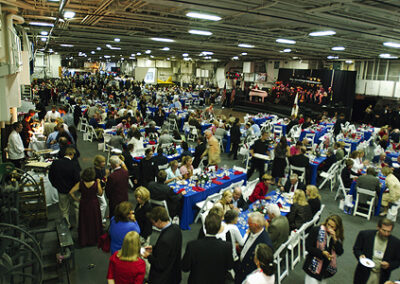
[[[143,254],[151,264],[150,284],[178,284],[181,282],[181,229],[171,224],[167,210],[155,207],[147,217],[153,226],[161,230],[160,236],[154,247],[146,247]]]

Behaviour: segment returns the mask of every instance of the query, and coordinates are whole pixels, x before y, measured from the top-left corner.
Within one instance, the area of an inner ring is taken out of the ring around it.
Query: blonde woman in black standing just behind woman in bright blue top
[[[147,212],[151,211],[150,192],[144,186],[139,186],[135,190],[137,205],[135,208],[136,221],[140,227],[140,240],[142,244],[148,244],[152,232],[152,225],[147,218]]]

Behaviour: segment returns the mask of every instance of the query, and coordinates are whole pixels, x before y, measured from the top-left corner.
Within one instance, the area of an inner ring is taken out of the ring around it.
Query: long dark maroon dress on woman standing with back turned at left
[[[81,246],[97,245],[103,233],[99,200],[97,199],[97,182],[90,188],[83,181],[79,184],[81,201],[79,202],[78,236]]]

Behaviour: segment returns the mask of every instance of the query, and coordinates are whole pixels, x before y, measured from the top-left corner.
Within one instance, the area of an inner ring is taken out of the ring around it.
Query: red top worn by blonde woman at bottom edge
[[[146,273],[144,260],[124,261],[117,254],[118,251],[110,257],[107,279],[114,279],[115,284],[142,284]]]

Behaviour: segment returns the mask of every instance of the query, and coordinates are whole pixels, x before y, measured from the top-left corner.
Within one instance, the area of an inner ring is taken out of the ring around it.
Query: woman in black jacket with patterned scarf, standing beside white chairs
[[[337,256],[343,254],[343,240],[342,219],[337,215],[329,216],[321,226],[311,229],[303,266],[305,284],[325,284],[325,279],[335,275]]]

